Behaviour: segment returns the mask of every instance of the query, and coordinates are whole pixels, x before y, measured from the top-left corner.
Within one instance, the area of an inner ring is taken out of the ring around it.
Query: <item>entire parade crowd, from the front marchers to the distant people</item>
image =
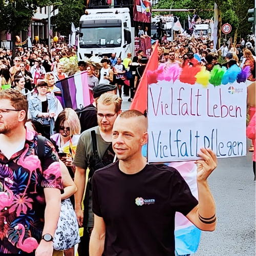
[[[255,81],[253,45],[225,48],[179,36],[159,46],[159,65],[249,66]],[[206,182],[215,154],[199,153],[198,201],[176,169],[146,164],[144,114],[121,111],[122,95],[133,100],[147,61],[142,50],[124,59],[113,53],[95,70],[66,44],[17,48],[14,58],[0,51],[1,255],[174,256],[176,211],[202,230],[215,229]],[[88,73],[91,104],[81,111],[63,109],[54,94],[55,83],[72,74],[63,72],[68,62]],[[152,204],[140,207],[142,196]]]

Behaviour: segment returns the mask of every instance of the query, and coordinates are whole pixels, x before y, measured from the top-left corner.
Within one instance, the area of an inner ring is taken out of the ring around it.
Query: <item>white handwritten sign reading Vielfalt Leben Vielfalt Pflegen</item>
[[[214,87],[159,81],[148,86],[148,162],[246,154],[246,84]]]

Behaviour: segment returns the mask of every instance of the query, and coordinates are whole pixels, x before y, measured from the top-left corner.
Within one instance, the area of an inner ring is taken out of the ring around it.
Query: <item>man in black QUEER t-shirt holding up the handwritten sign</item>
[[[179,172],[164,164],[147,164],[147,120],[136,110],[115,120],[112,144],[119,159],[97,170],[92,181],[94,229],[90,255],[174,256],[175,213],[198,228],[213,231],[216,208],[207,178],[217,166],[210,149],[198,153],[199,202]]]

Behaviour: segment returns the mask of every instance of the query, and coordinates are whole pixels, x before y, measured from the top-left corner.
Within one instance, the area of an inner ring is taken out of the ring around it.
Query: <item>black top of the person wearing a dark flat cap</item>
[[[86,111],[81,113],[79,118],[81,124],[81,133],[98,125],[96,107],[93,104],[90,104],[86,107],[86,109]]]

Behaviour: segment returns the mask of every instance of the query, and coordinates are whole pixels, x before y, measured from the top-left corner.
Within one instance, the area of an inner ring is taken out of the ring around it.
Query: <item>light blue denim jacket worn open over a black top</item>
[[[50,94],[46,95],[47,100],[48,100],[48,113],[57,113],[57,106],[56,102],[54,100],[54,97],[51,96]],[[37,117],[39,113],[42,112],[42,103],[38,99],[38,95],[34,94],[29,98],[29,113],[31,115],[31,118],[35,121],[38,121],[42,123],[42,118]],[[51,135],[53,134],[54,130],[54,119],[49,118],[50,126],[51,126]]]

